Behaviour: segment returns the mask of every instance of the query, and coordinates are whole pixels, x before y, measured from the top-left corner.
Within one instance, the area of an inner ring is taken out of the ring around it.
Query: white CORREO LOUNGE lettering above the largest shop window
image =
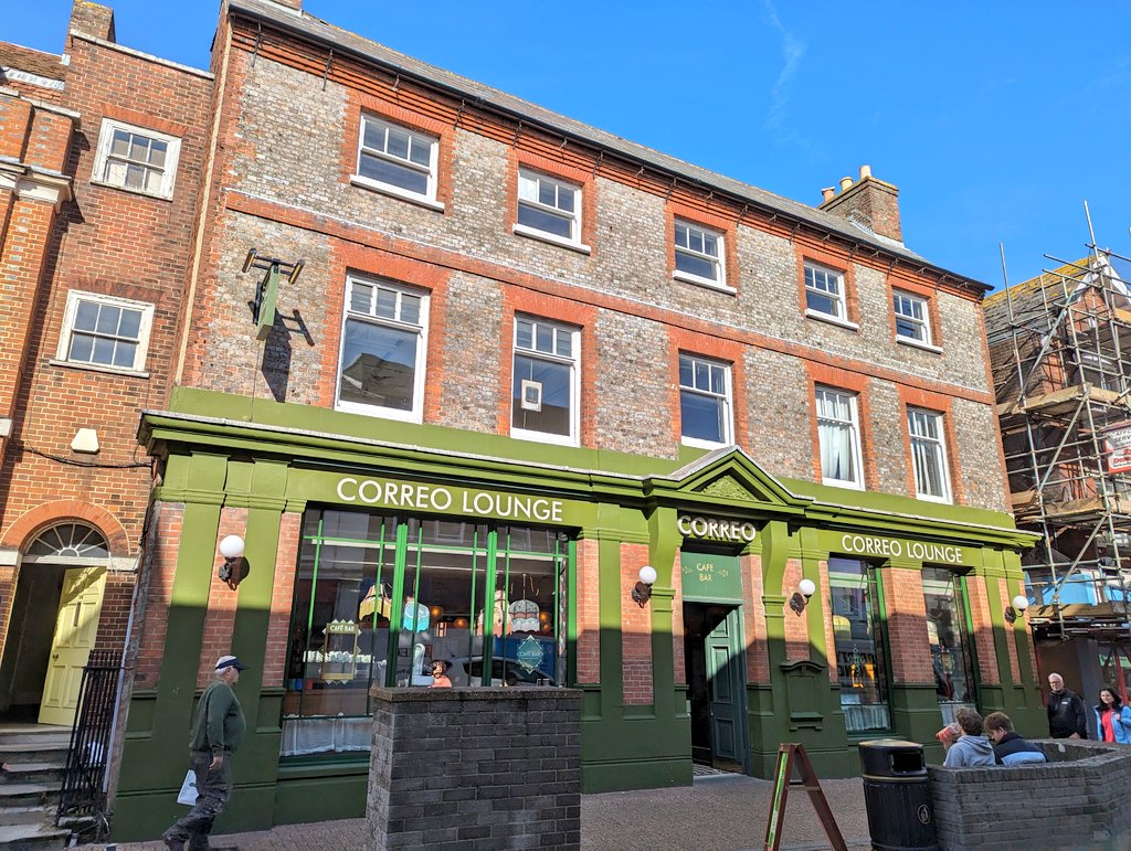
[[[561,523],[564,503],[544,496],[506,494],[497,490],[465,490],[433,485],[382,479],[356,479],[347,476],[338,481],[338,498],[343,502],[386,505],[408,511],[476,514],[506,520],[536,520]]]

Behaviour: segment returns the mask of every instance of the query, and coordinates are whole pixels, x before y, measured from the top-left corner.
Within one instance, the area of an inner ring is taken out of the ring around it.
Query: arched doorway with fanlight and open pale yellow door
[[[0,714],[70,726],[98,633],[110,548],[80,522],[57,523],[20,559],[0,663]]]

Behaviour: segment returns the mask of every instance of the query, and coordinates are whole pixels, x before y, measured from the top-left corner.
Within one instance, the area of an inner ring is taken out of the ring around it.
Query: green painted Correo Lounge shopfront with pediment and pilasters
[[[756,652],[768,662],[765,681],[744,678],[742,694],[735,696],[744,721],[735,730],[741,767],[768,776],[779,743],[800,741],[822,776],[847,776],[858,772],[854,743],[861,737],[846,731],[840,688],[829,678],[828,603],[821,592],[814,594],[801,615],[809,627],[809,657],[789,658],[785,622],[794,613],[789,589],[784,589],[786,571],[800,564],[802,574],[815,582],[821,563],[839,555],[882,566],[888,576],[890,571],[922,571],[929,562],[1019,587],[1019,553],[1031,540],[1005,514],[775,479],[735,449],[707,454],[684,450],[677,460],[664,460],[189,389],[174,392],[170,410],[144,416],[140,440],[162,462],[155,512],[183,505],[183,516],[157,687],[135,688],[130,696],[114,805],[118,840],[154,837],[183,811],[174,799],[184,776],[215,541],[225,507],[247,511],[249,571],[233,592],[232,652],[251,670],[238,687],[249,736],[236,757],[233,808],[217,831],[356,817],[364,810],[368,754],[280,758],[286,689],[279,683],[262,685],[257,676],[268,652],[284,513],[368,509],[429,515],[443,509],[447,516],[491,523],[521,512],[524,522],[530,519],[568,533],[562,536],[570,545],[561,629],[569,684],[585,695],[586,791],[691,782],[690,701],[688,686],[676,683],[672,636],[673,579],[679,582],[681,574],[684,605],[751,606],[750,578],[740,575],[740,558],[760,558],[761,588],[767,590],[754,602],[765,607],[766,639],[750,645],[742,618],[735,616],[718,643],[732,648],[736,658]],[[690,518],[709,520],[692,528]],[[708,526],[711,521],[717,522]],[[575,678],[576,550],[582,541],[596,542],[586,546],[596,546],[599,565],[599,684]],[[653,702],[647,705],[622,698],[622,610],[631,589],[621,572],[623,544],[646,546],[658,573],[648,603]],[[681,549],[684,556],[701,552],[705,557],[681,559]],[[700,574],[711,579],[700,580]],[[986,597],[992,636],[978,640],[992,640],[1004,681],[978,681],[977,704],[983,712],[1008,712],[1019,729],[1039,729],[1043,710],[1024,618],[1007,623],[998,594]],[[882,605],[877,616],[889,617]],[[886,632],[889,642],[892,632]],[[1009,635],[1016,640],[1018,683],[1008,681]],[[893,652],[899,648],[884,648],[888,658]],[[933,683],[890,679],[887,703],[889,735],[934,741],[941,717]]]

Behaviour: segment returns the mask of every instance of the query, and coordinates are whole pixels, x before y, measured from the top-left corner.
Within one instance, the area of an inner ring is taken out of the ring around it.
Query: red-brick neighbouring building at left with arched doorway
[[[90,648],[126,642],[153,484],[137,423],[169,394],[210,95],[208,73],[116,44],[86,0],[62,55],[0,44],[9,717],[69,724]],[[55,628],[57,608],[81,628]]]

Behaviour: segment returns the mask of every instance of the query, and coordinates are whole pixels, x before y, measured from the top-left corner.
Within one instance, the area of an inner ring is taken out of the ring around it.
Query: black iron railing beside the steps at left
[[[109,826],[106,766],[121,671],[120,651],[90,651],[90,658],[83,668],[70,752],[67,754],[59,811],[55,814],[57,825],[63,819],[93,822],[90,828],[98,834],[96,839],[101,839]]]

